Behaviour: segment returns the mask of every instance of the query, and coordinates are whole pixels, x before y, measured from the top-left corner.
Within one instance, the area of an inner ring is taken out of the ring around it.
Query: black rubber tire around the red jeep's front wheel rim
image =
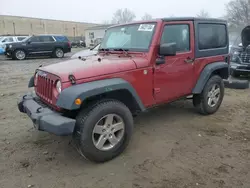
[[[125,124],[124,136],[114,148],[102,151],[95,147],[92,132],[99,119],[107,114],[119,115]],[[82,109],[76,117],[73,138],[79,144],[81,154],[93,162],[106,162],[120,155],[127,147],[133,132],[133,117],[126,105],[117,100],[104,100]]]

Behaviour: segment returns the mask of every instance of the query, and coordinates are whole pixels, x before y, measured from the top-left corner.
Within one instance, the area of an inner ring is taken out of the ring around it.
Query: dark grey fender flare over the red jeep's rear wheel
[[[214,62],[206,65],[202,70],[200,77],[198,78],[195,87],[193,88],[193,94],[200,94],[207,83],[208,79],[212,75],[212,73],[219,69],[227,69],[228,64],[226,62]],[[228,77],[228,75],[227,75]]]

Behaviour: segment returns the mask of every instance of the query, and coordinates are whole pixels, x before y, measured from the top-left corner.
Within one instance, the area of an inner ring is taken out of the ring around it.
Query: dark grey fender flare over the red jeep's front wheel
[[[133,86],[121,78],[92,81],[68,87],[60,93],[56,105],[67,110],[77,110],[80,108],[75,104],[78,98],[84,103],[84,100],[89,97],[124,89],[131,93],[140,110],[144,111],[145,107]]]

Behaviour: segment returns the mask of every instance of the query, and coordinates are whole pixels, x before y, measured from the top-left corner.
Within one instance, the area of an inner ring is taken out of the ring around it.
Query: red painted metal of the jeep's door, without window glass
[[[165,63],[154,65],[154,87],[161,88],[161,92],[155,94],[157,103],[168,102],[190,94],[194,85],[194,65],[186,63],[185,59],[194,59],[194,28],[193,22],[167,22],[161,28],[160,36],[164,26],[173,24],[187,24],[190,28],[190,51],[177,53],[175,56],[165,57]],[[160,43],[160,37],[158,38]],[[158,56],[156,56],[158,58]]]

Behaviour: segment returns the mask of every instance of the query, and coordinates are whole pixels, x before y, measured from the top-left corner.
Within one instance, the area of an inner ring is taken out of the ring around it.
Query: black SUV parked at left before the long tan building
[[[71,52],[71,43],[62,35],[30,36],[18,43],[6,45],[5,55],[12,59],[23,60],[27,56],[52,56],[62,58]]]

